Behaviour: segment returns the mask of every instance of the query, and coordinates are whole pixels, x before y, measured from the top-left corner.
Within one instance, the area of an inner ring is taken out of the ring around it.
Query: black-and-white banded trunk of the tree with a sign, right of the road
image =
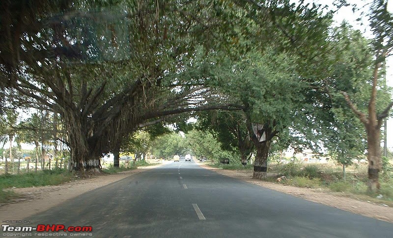
[[[270,149],[270,141],[255,144],[256,156],[254,161],[253,178],[265,179],[267,176],[267,157]]]

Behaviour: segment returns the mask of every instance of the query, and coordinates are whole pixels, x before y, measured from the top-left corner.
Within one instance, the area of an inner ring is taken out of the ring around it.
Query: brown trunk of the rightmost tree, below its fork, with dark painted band
[[[378,127],[369,126],[367,130],[368,145],[368,190],[377,192],[380,189],[379,171],[381,169],[381,142]]]

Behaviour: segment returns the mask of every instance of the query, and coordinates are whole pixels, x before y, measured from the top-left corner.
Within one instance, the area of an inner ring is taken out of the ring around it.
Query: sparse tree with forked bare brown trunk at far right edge
[[[350,95],[342,91],[349,107],[364,124],[367,133],[367,159],[368,159],[368,190],[376,192],[380,189],[379,171],[381,169],[380,134],[383,119],[389,116],[393,101],[384,103],[384,109],[378,110],[377,92],[381,84],[382,66],[391,54],[393,48],[393,15],[387,10],[388,1],[374,0],[371,4],[369,19],[370,27],[374,33],[372,49],[374,51],[373,73],[371,88],[366,112],[360,110]]]

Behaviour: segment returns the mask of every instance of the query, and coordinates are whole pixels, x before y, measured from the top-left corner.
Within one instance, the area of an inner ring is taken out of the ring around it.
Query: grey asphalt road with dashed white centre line
[[[170,162],[29,218],[97,238],[392,238],[393,224]]]

